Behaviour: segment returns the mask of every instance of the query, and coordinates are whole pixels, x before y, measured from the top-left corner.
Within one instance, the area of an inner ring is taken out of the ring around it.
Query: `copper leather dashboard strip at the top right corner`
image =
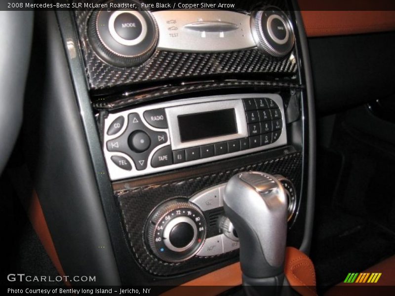
[[[371,2],[363,3],[358,1],[354,4],[344,0],[331,0],[329,2],[298,0],[298,2],[308,37],[395,30],[395,11],[389,9],[383,9],[382,11],[363,9],[365,6],[371,7]],[[356,11],[353,9],[361,10]]]

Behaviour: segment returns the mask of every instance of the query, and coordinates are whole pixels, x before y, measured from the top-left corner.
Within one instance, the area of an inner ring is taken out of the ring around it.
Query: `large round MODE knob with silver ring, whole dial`
[[[124,5],[125,1],[113,1]],[[146,61],[158,42],[158,28],[149,11],[137,10],[141,5],[127,0],[129,7],[118,10],[103,8],[92,13],[88,37],[94,51],[105,62],[131,67]],[[140,9],[140,8],[139,8]]]

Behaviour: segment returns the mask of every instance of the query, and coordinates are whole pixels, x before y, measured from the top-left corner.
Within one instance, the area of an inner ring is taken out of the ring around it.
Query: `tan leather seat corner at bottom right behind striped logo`
[[[392,256],[362,273],[381,273],[377,283],[339,283],[331,288],[325,296],[344,295],[395,295],[395,256]]]

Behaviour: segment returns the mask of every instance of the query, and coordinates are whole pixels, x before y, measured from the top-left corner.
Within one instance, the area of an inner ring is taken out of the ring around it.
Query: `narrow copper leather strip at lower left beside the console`
[[[48,225],[46,224],[44,213],[40,205],[40,200],[36,190],[32,192],[32,198],[30,200],[28,208],[29,220],[36,231],[41,244],[43,245],[49,258],[52,260],[53,265],[58,271],[59,275],[65,276],[62,264],[60,263],[58,254],[56,253],[55,245],[53,244],[51,233],[49,232]],[[70,286],[70,282],[65,282],[66,285]]]

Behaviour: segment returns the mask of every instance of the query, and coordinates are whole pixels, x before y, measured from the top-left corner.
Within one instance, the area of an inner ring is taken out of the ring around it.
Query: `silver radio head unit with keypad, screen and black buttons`
[[[284,122],[277,94],[200,97],[111,113],[103,144],[110,179],[286,145]]]

